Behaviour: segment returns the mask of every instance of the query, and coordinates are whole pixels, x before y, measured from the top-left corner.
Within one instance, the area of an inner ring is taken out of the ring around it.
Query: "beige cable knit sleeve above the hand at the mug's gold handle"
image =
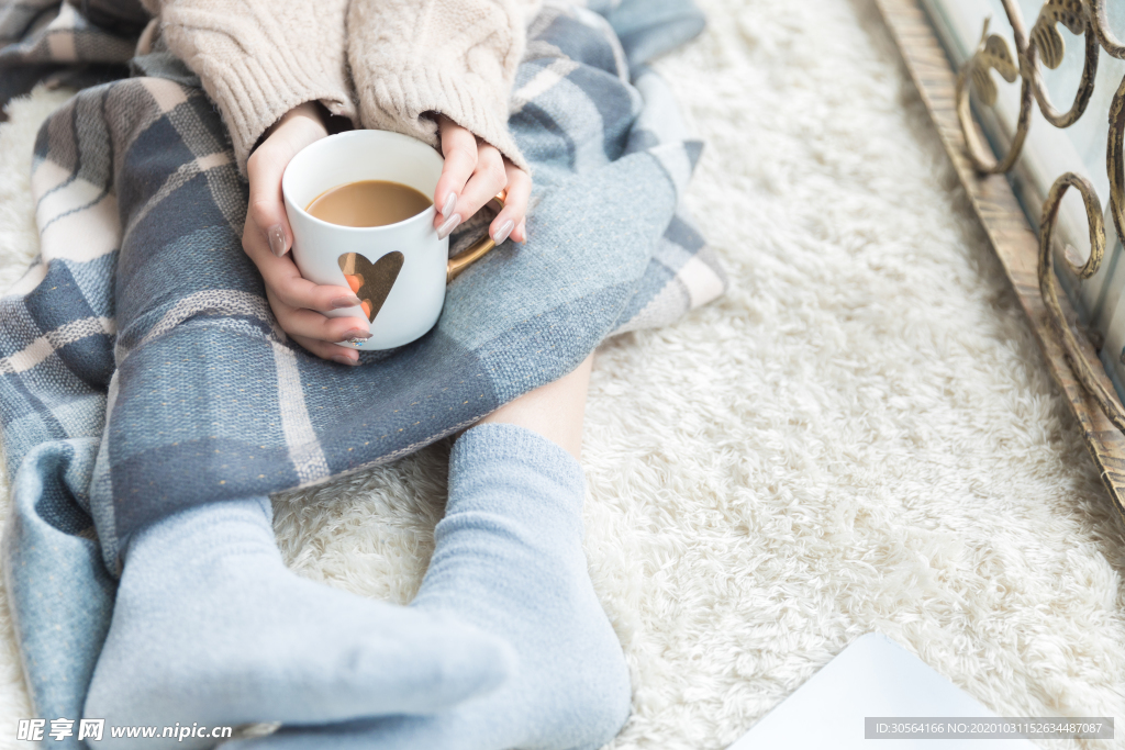
[[[507,129],[526,0],[351,0],[348,62],[363,127],[438,144],[446,115],[528,169]]]

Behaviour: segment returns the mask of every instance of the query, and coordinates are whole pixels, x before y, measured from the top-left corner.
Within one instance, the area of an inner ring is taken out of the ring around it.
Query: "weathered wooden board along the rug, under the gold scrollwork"
[[[918,0],[875,0],[902,53],[910,78],[921,94],[930,118],[937,127],[945,151],[953,161],[961,184],[972,201],[973,210],[988,233],[993,251],[1004,264],[1019,304],[1035,332],[1051,376],[1062,390],[1071,413],[1078,418],[1090,455],[1098,464],[1101,481],[1125,519],[1125,435],[1102,414],[1097,401],[1076,380],[1062,347],[1054,338],[1036,274],[1038,237],[1023,208],[1000,174],[981,175],[965,155],[965,138],[957,123],[955,88],[956,72],[950,63],[926,11]],[[1082,354],[1095,365],[1099,380],[1114,392],[1105,369],[1089,338],[1074,324],[1077,315],[1070,302],[1061,299],[1066,319],[1076,333]]]

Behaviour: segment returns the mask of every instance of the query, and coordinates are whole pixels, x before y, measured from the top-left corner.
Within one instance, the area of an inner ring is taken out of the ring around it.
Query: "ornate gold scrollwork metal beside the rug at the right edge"
[[[1113,57],[1125,60],[1125,45],[1118,42],[1109,28],[1106,12],[1107,0],[1047,0],[1040,9],[1040,15],[1028,34],[1016,0],[1001,0],[1008,22],[1011,25],[1016,42],[1016,56],[1012,60],[1008,43],[1004,37],[988,33],[989,21],[984,21],[984,31],[975,54],[962,66],[957,76],[956,103],[957,118],[965,136],[965,146],[973,166],[988,174],[1010,170],[1019,152],[1023,150],[1030,125],[1032,101],[1038,103],[1043,117],[1059,128],[1066,128],[1077,123],[1086,112],[1094,93],[1095,78],[1098,72],[1098,57],[1105,49]],[[1065,53],[1065,42],[1059,33],[1059,24],[1065,26],[1074,35],[1081,35],[1086,42],[1086,62],[1082,66],[1082,78],[1070,110],[1060,112],[1054,108],[1047,96],[1046,85],[1040,64],[1055,69],[1062,63]],[[996,103],[997,89],[991,79],[991,71],[997,71],[1006,81],[1014,83],[1016,74],[1020,79],[1019,117],[1016,132],[1012,135],[1008,153],[997,160],[982,143],[980,134],[972,120],[969,99],[969,82],[981,103],[989,107]],[[1015,73],[1015,74],[1014,74]],[[1109,175],[1109,205],[1117,236],[1125,237],[1125,79],[1122,80],[1117,94],[1109,107],[1109,137],[1106,150],[1106,170]],[[1055,227],[1059,223],[1059,208],[1066,190],[1074,188],[1082,196],[1086,206],[1087,222],[1090,231],[1090,256],[1084,263],[1077,263],[1071,253],[1064,253],[1064,261],[1071,271],[1080,279],[1089,279],[1098,272],[1106,250],[1106,229],[1101,216],[1101,201],[1089,180],[1068,172],[1055,180],[1043,204],[1043,215],[1040,222],[1040,259],[1038,280],[1040,293],[1051,318],[1055,338],[1066,353],[1071,369],[1082,387],[1098,401],[1106,416],[1125,432],[1125,408],[1116,395],[1102,386],[1102,379],[1096,374],[1094,365],[1082,354],[1074,332],[1066,322],[1059,304],[1059,281],[1054,270]]]

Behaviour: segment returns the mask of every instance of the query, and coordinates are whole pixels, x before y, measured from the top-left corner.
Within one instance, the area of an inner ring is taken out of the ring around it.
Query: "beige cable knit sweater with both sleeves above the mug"
[[[438,145],[434,114],[528,164],[507,129],[538,0],[144,0],[202,81],[238,169],[287,111],[320,101],[356,127]],[[145,34],[151,37],[152,34]]]

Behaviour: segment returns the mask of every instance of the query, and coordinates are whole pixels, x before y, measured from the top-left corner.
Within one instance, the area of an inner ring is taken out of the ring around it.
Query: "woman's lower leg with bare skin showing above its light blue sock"
[[[412,607],[505,640],[514,676],[433,717],[284,729],[270,748],[597,748],[629,716],[629,670],[582,548],[576,454],[591,362],[467,431],[449,505]]]

